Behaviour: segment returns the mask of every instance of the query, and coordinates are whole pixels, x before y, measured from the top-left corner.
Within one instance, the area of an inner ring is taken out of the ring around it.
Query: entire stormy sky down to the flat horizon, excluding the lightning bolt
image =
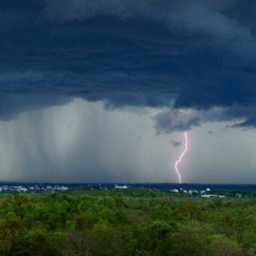
[[[256,2],[0,3],[0,181],[256,181]]]

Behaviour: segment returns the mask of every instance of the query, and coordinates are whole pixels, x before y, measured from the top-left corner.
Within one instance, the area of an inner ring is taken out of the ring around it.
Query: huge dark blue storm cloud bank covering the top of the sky
[[[103,100],[107,108],[223,107],[219,116],[163,111],[156,128],[182,131],[204,120],[254,128],[255,7],[229,0],[1,2],[1,98],[51,94]],[[0,118],[28,108],[1,104]],[[47,104],[54,100],[38,106]]]

